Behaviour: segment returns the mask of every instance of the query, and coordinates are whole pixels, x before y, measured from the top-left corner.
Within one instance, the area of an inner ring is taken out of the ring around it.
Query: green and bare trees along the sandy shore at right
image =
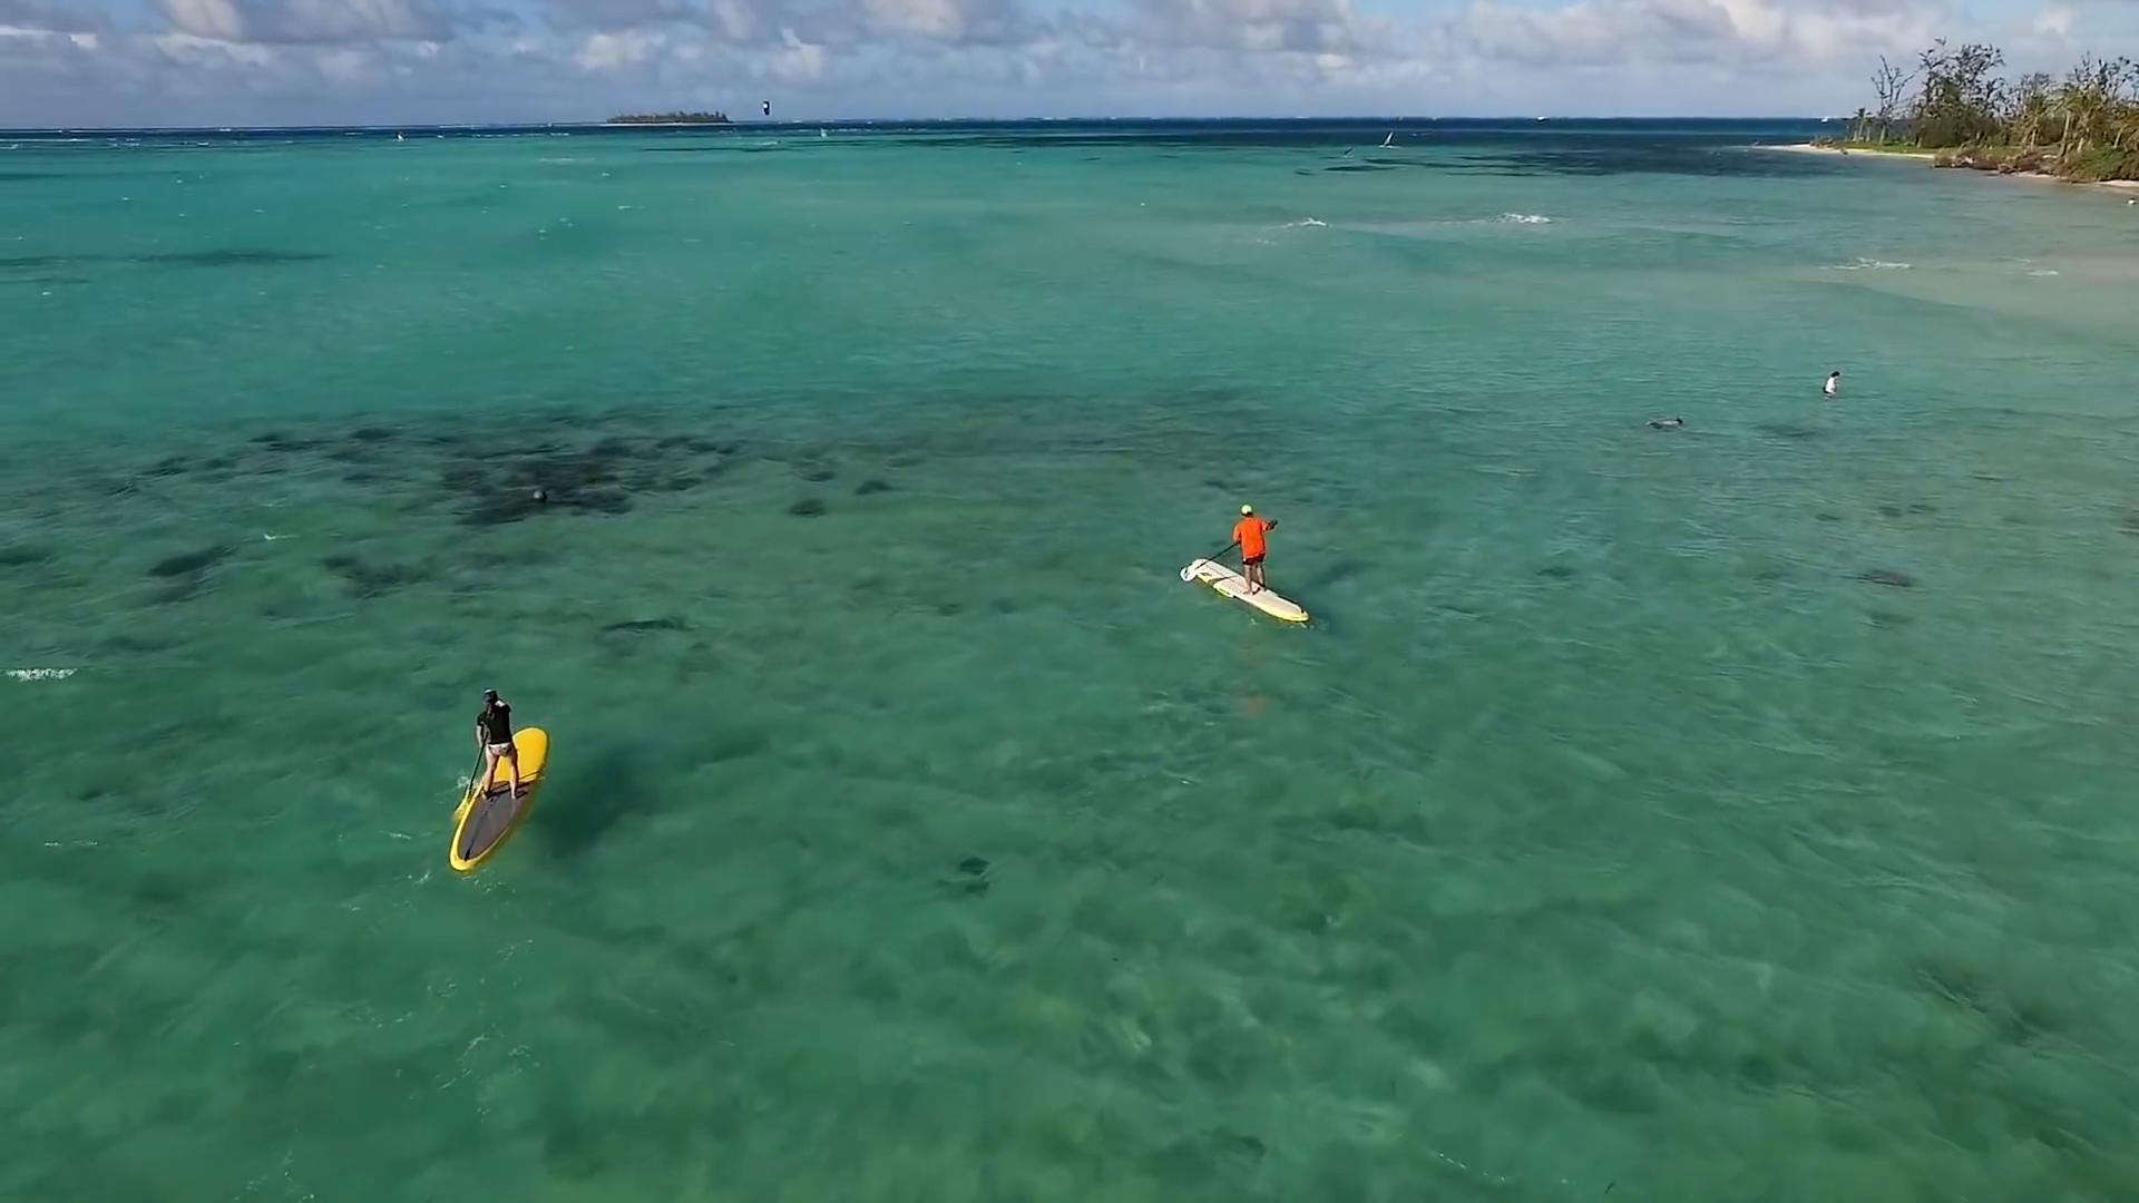
[[[1874,109],[1850,141],[1936,150],[1944,167],[2047,171],[2066,180],[2139,180],[2139,64],[2083,56],[2062,79],[1998,75],[2004,51],[1938,39],[1914,71],[1880,58]]]

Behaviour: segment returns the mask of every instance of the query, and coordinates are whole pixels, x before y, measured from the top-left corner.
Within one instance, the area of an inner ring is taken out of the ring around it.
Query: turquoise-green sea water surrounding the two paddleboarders
[[[1382,133],[0,135],[0,1199],[2130,1199],[2139,218]]]

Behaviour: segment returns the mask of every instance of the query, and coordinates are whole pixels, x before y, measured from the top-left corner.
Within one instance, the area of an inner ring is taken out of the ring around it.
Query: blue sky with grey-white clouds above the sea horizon
[[[0,126],[1780,116],[1934,36],[2139,56],[2139,0],[0,0]]]

